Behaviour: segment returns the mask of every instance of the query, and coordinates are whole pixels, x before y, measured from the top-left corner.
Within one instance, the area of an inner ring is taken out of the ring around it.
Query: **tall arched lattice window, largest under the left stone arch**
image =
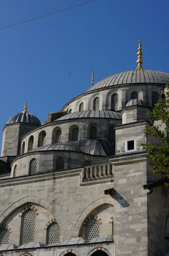
[[[23,212],[21,222],[21,244],[34,242],[35,239],[36,213],[32,209]]]

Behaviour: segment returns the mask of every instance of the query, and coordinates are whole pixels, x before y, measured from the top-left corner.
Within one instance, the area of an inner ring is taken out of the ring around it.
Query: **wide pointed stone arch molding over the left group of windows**
[[[10,207],[8,207],[8,209],[6,209],[1,215],[0,215],[0,224],[3,223],[4,219],[6,219],[12,212],[14,212],[14,210],[16,210],[18,207],[23,206],[24,204],[38,204],[39,206],[44,207],[45,209],[47,209],[49,212],[51,212],[52,215],[54,215],[54,217],[56,218],[56,216],[58,216],[58,213],[56,212],[56,210],[54,209],[54,207],[52,207],[50,204],[48,204],[48,202],[46,202],[43,199],[40,198],[36,198],[36,197],[32,197],[32,196],[27,196],[25,198],[20,199],[19,201],[15,202],[14,204],[12,204]],[[59,224],[61,217],[56,218],[56,222]]]

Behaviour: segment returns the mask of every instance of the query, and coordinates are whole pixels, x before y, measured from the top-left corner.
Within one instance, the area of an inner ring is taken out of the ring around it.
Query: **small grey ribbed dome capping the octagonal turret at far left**
[[[37,118],[37,116],[34,116],[31,113],[28,112],[22,112],[22,113],[17,113],[13,116],[11,116],[11,118],[8,120],[8,122],[6,123],[8,124],[13,124],[16,122],[25,122],[25,123],[29,123],[29,124],[35,124],[35,125],[41,125],[40,120]]]

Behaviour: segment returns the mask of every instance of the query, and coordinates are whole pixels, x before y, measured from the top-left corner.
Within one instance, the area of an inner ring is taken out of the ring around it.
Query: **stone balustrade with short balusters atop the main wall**
[[[82,180],[93,179],[98,177],[107,177],[113,175],[112,163],[86,166],[82,169]]]

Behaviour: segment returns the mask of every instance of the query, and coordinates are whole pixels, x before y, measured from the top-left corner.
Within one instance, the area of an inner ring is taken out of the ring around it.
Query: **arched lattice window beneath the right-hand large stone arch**
[[[99,236],[99,221],[95,218],[87,222],[86,225],[86,239],[90,241]]]

